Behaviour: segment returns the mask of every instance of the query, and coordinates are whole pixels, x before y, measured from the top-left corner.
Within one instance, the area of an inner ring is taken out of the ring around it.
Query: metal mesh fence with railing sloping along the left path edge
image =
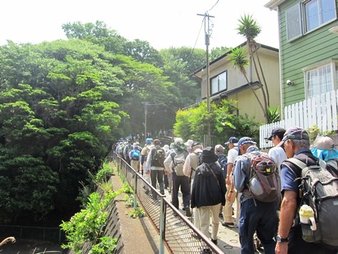
[[[134,202],[140,203],[160,238],[159,253],[223,253],[193,223],[175,208],[120,156],[113,153],[113,162],[133,188]],[[135,203],[134,203],[135,207]],[[197,237],[196,237],[197,235]]]

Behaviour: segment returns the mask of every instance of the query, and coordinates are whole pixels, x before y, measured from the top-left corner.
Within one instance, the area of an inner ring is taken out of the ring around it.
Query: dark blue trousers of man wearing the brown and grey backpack
[[[255,203],[257,206],[255,206]],[[242,254],[254,253],[253,235],[257,232],[266,254],[275,253],[277,230],[276,202],[263,203],[250,198],[241,203],[238,233]]]

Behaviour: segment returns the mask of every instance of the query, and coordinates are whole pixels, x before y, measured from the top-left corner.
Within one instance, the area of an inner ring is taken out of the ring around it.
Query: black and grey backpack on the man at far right
[[[307,204],[314,211],[317,226],[317,230],[312,231],[314,243],[326,248],[338,248],[338,178],[324,169],[322,160],[318,159],[314,166],[307,166],[297,158],[287,161],[302,171],[300,188],[303,195],[299,208]]]

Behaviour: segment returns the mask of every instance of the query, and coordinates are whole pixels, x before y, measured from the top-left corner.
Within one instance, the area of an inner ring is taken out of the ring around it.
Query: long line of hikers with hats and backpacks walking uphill
[[[143,148],[131,141],[113,148],[161,194],[168,189],[178,209],[180,191],[185,215],[215,245],[222,218],[223,226],[238,228],[241,253],[254,253],[259,244],[265,253],[337,253],[334,141],[320,136],[311,146],[299,127],[274,128],[270,134],[274,147],[267,153],[253,138],[235,136],[225,146],[205,148],[182,138],[170,146],[146,138]]]

